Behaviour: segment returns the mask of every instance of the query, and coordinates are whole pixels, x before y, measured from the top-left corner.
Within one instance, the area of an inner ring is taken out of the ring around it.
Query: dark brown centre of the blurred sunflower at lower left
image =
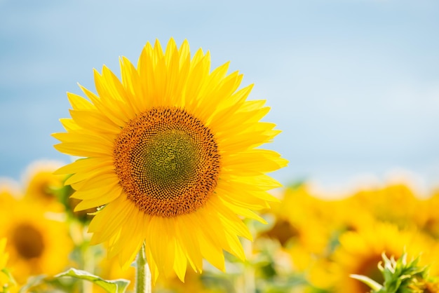
[[[23,223],[15,227],[12,243],[18,254],[24,259],[40,257],[44,251],[43,236],[31,224]]]

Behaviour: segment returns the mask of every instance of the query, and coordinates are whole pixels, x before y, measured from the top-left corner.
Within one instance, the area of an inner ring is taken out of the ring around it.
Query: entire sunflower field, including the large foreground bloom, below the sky
[[[0,182],[0,292],[439,292],[439,191],[328,198],[229,63],[173,39],[68,93],[55,149]]]

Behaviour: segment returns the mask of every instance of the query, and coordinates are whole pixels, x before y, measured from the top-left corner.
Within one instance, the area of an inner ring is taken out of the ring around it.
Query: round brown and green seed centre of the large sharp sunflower
[[[209,128],[175,107],[142,112],[114,143],[114,168],[127,198],[154,216],[202,207],[217,186],[219,160]]]

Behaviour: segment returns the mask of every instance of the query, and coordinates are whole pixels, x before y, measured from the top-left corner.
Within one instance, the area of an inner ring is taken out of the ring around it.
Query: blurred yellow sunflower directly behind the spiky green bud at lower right
[[[407,256],[416,257],[421,252],[421,261],[426,261],[433,269],[438,266],[433,262],[437,259],[437,244],[431,238],[417,231],[400,230],[394,224],[377,222],[364,226],[358,231],[347,231],[339,238],[339,247],[333,254],[337,265],[335,270],[336,292],[363,293],[368,287],[358,280],[350,278],[350,274],[366,275],[379,283],[383,276],[377,265],[381,254],[392,255],[398,259],[407,251]],[[422,262],[420,263],[422,264]]]

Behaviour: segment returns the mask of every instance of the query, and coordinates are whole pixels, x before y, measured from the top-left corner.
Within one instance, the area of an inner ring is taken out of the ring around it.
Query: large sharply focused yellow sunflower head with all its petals
[[[58,171],[81,199],[76,210],[102,207],[90,223],[92,243],[109,245],[128,267],[143,243],[151,274],[184,280],[187,264],[202,260],[224,271],[222,250],[245,258],[238,236],[252,235],[241,217],[263,221],[252,210],[276,200],[280,186],[266,172],[287,164],[259,149],[278,134],[260,119],[264,100],[247,100],[252,86],[227,74],[229,63],[210,71],[210,54],[170,39],[142,50],[137,68],[122,57],[121,81],[107,67],[95,72],[97,95],[68,93],[72,118],[55,133],[55,148],[83,157]]]

